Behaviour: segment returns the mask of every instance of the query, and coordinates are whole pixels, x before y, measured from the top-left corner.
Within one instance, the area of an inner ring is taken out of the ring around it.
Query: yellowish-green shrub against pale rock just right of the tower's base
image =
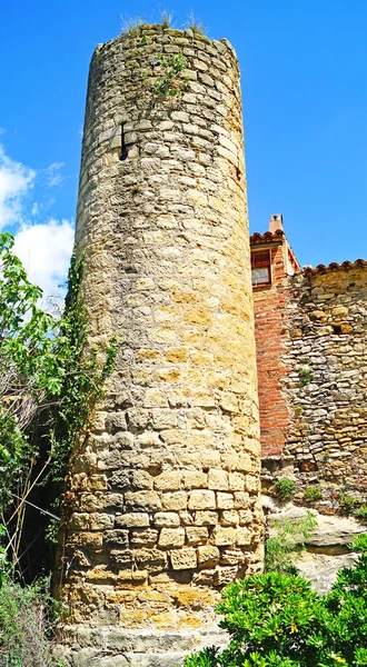
[[[300,554],[305,549],[305,540],[310,536],[317,520],[308,511],[306,517],[291,520],[275,521],[276,535],[265,544],[265,568],[267,571],[296,573],[290,561],[292,554]]]

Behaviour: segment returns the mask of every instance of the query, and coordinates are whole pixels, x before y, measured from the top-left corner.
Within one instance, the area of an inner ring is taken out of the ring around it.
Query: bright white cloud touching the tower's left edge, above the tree
[[[22,261],[31,282],[39,285],[43,297],[60,293],[73,245],[73,225],[69,220],[49,220],[22,225],[16,235],[14,252]]]

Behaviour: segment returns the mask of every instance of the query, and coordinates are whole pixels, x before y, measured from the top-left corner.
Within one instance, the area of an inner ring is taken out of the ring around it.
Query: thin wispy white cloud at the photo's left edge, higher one
[[[34,178],[34,169],[8,158],[0,146],[0,229],[22,220],[22,199]]]

